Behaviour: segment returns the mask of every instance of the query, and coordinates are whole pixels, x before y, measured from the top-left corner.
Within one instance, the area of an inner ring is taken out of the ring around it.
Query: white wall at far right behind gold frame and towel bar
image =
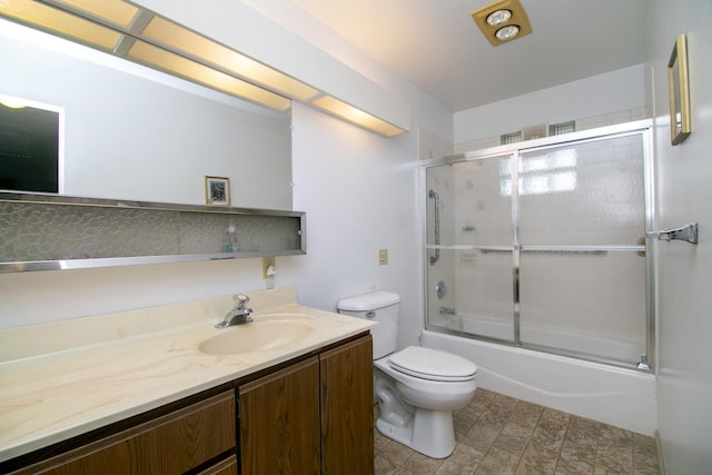
[[[659,432],[665,472],[712,473],[712,2],[656,0],[650,39],[657,227],[698,221],[700,244],[659,245]],[[666,63],[688,34],[692,135],[670,145]]]

